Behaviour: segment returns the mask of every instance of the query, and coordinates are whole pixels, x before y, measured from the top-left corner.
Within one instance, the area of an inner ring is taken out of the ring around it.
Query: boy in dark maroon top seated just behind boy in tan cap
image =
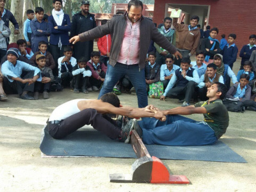
[[[41,41],[38,43],[38,49],[39,51],[35,52],[35,54],[31,57],[31,61],[33,61],[36,64],[36,55],[38,54],[44,54],[45,56],[45,67],[51,68],[51,70],[55,67],[55,62],[52,57],[51,52],[47,51],[47,42]]]

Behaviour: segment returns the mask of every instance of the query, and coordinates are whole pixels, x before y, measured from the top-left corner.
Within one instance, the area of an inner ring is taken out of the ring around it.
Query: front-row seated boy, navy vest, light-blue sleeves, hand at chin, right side
[[[170,98],[178,97],[181,100],[180,95],[185,95],[182,107],[186,107],[189,106],[195,92],[195,86],[200,83],[200,79],[195,68],[189,67],[191,62],[189,58],[182,58],[180,62],[180,68],[175,70],[160,100],[164,100],[166,96]],[[176,86],[173,87],[175,84]]]

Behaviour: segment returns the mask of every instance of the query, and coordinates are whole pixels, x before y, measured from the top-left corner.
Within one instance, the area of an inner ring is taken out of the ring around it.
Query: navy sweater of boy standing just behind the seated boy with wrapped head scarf
[[[227,64],[231,69],[233,68],[233,64],[236,62],[237,57],[237,46],[235,44],[226,45],[222,51],[223,55],[223,63]]]

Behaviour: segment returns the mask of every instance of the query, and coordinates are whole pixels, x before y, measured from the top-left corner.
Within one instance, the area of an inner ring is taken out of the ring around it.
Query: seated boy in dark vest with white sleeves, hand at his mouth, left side
[[[72,80],[72,69],[76,66],[76,58],[72,57],[73,49],[69,46],[64,48],[64,56],[58,59],[58,69],[59,75],[61,78],[61,84],[63,86],[70,86],[70,81]]]

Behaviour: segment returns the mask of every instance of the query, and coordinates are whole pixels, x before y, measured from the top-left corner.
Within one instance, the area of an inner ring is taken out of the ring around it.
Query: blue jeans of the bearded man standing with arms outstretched
[[[136,90],[139,108],[145,108],[148,105],[145,70],[144,68],[140,69],[139,65],[124,65],[122,63],[116,63],[115,67],[108,65],[105,81],[100,90],[98,99],[100,99],[102,95],[112,92],[115,84],[124,77],[125,74],[129,77]]]

